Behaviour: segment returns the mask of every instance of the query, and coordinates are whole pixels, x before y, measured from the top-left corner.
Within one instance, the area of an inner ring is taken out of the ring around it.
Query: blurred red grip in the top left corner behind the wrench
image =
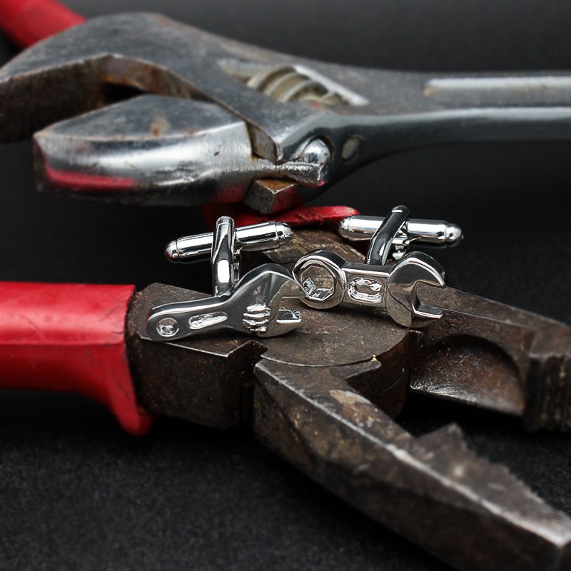
[[[84,21],[55,0],[0,0],[0,27],[22,48]]]

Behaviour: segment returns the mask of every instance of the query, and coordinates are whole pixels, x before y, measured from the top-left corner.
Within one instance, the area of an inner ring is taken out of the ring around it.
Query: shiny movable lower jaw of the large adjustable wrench
[[[316,145],[324,156],[309,154]],[[266,179],[320,186],[328,158],[317,141],[273,164],[253,153],[247,123],[221,106],[157,95],[44,128],[34,150],[43,190],[149,206],[241,202]]]

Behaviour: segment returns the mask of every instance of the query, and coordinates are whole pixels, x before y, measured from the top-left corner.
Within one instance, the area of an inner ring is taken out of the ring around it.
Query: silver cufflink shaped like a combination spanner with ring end
[[[420,303],[416,286],[423,282],[442,287],[443,268],[425,253],[406,251],[413,242],[452,246],[462,238],[458,226],[408,220],[408,208],[397,206],[386,218],[345,218],[340,233],[353,239],[373,235],[365,263],[347,262],[328,250],[300,258],[293,273],[305,292],[305,304],[316,309],[343,302],[370,305],[411,328],[440,318],[440,309]]]

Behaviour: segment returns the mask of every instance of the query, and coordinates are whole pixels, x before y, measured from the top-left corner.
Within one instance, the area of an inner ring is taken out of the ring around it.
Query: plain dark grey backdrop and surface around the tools
[[[563,1],[134,1],[67,3],[86,16],[161,11],[271,49],[359,66],[571,69]],[[0,61],[16,49],[0,41]],[[15,117],[14,121],[18,118]],[[321,203],[459,223],[437,253],[451,285],[571,323],[570,143],[446,146],[394,156]],[[208,290],[204,265],[168,266],[163,244],[201,229],[189,209],[80,203],[34,191],[28,142],[0,147],[0,280],[136,283]],[[133,439],[73,395],[0,395],[0,567],[6,570],[445,570],[258,445],[160,420]],[[414,433],[462,425],[571,514],[570,438],[515,420],[414,400]],[[410,517],[414,517],[411,513]]]

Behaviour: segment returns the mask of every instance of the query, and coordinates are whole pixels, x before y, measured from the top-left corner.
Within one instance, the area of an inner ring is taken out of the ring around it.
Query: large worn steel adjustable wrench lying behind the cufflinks
[[[81,114],[143,92],[154,95]],[[119,14],[36,44],[0,71],[0,137],[38,129],[41,188],[149,204],[244,201],[272,213],[407,148],[567,140],[571,78],[355,69]]]

